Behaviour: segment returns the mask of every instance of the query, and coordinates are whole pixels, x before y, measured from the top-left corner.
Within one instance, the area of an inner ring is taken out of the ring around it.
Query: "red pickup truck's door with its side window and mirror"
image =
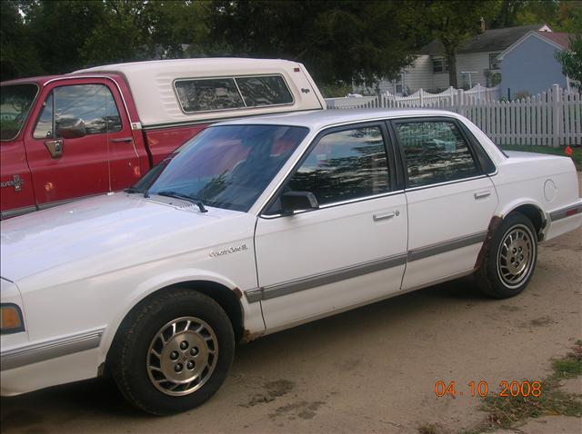
[[[130,127],[107,82],[57,80],[45,87],[42,107],[25,134],[39,208],[111,191],[110,141]]]

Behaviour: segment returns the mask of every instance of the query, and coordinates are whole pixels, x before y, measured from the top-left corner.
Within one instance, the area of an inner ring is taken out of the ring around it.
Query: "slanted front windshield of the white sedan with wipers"
[[[187,197],[247,212],[308,130],[282,125],[207,128],[157,164],[128,192]]]

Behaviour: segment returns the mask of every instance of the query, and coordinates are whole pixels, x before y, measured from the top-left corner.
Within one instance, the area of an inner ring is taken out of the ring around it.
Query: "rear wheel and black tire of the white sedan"
[[[476,274],[477,284],[491,297],[514,297],[526,289],[536,262],[536,229],[524,214],[512,212],[489,242],[483,264]]]

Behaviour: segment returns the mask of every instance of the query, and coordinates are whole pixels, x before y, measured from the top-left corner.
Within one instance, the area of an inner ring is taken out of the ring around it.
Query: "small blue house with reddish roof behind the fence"
[[[567,50],[569,35],[534,30],[507,47],[497,56],[501,62],[501,96],[535,95],[552,84],[569,89],[556,53]]]

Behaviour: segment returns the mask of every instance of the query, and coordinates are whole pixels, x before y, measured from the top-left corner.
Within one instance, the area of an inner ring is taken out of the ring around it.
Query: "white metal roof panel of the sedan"
[[[393,119],[416,116],[449,116],[459,117],[457,113],[445,110],[430,110],[422,108],[406,109],[346,109],[346,110],[315,110],[308,112],[265,114],[239,118],[232,121],[215,123],[215,125],[241,125],[241,124],[276,124],[306,126],[310,129],[320,129],[326,126],[376,121],[380,119]]]

